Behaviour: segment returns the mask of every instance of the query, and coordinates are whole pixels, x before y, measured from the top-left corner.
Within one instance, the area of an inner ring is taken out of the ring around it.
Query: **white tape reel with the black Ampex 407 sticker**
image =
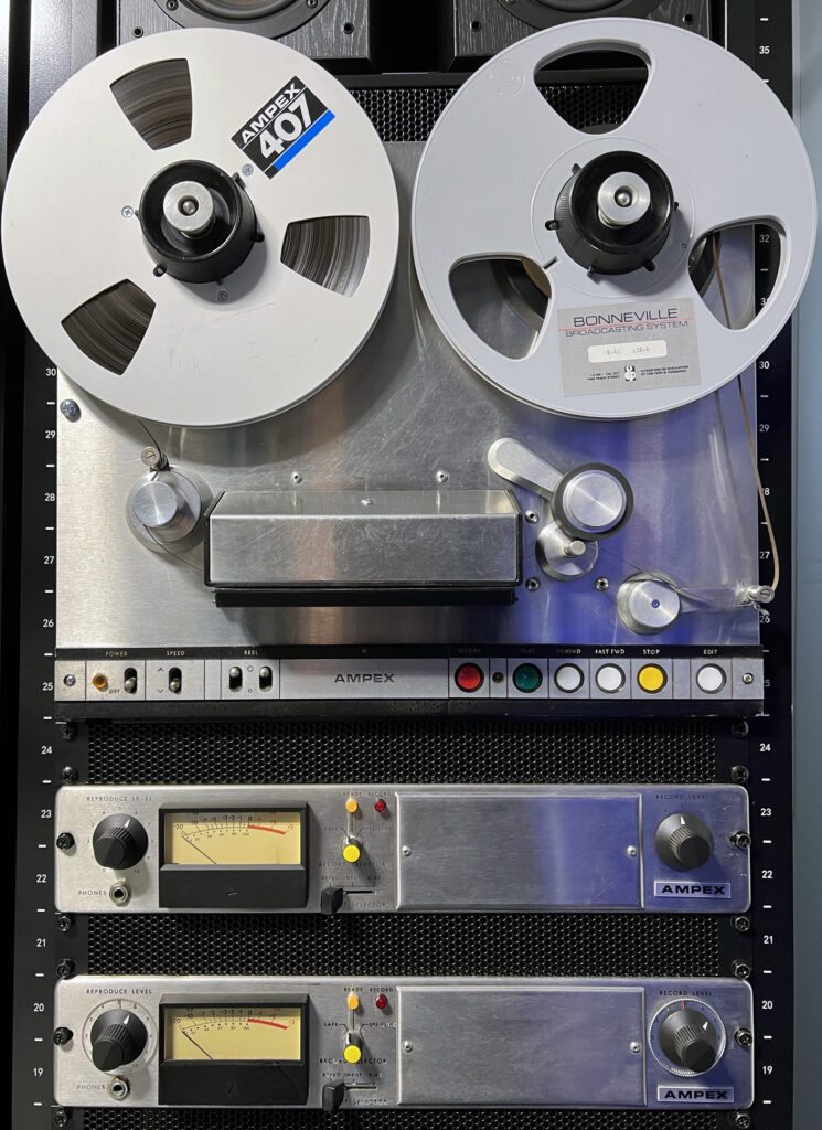
[[[117,409],[218,427],[283,411],[371,332],[396,266],[385,150],[327,71],[180,31],[79,71],[9,175],[11,289],[46,355]]]

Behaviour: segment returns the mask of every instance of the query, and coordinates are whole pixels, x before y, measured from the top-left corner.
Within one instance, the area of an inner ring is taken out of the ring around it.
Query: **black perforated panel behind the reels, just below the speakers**
[[[641,82],[552,82],[545,99],[577,129],[623,122],[642,93]],[[426,141],[456,87],[358,87],[351,90],[383,141]]]

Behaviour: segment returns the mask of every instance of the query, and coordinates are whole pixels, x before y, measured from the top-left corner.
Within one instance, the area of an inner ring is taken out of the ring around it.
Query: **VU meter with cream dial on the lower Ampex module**
[[[308,1094],[306,1001],[166,1005],[163,1105],[296,1105]]]

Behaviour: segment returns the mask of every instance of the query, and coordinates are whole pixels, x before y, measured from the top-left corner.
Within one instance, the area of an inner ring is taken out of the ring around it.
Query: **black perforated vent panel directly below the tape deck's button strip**
[[[91,784],[341,782],[707,784],[705,720],[112,723],[89,729]]]

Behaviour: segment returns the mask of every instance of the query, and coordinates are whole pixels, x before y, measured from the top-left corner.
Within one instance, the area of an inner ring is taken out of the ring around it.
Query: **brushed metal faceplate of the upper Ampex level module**
[[[357,802],[355,814],[346,809],[349,799]],[[381,800],[385,807],[378,811]],[[58,793],[55,827],[70,833],[73,844],[55,851],[58,907],[116,914],[167,909],[159,889],[167,811],[253,812],[303,805],[307,902],[272,906],[272,912],[318,913],[324,890],[344,893],[340,913],[577,909],[725,914],[750,905],[749,852],[731,838],[749,827],[747,794],[738,786],[349,784],[68,785]],[[667,867],[654,843],[657,827],[676,812],[696,816],[714,838],[711,858],[691,872]],[[120,871],[100,867],[93,852],[95,827],[116,814],[139,820],[148,834],[145,858]],[[342,858],[347,835],[361,845],[356,864]],[[220,881],[216,869],[215,890]],[[113,890],[123,885],[129,898],[117,902]],[[668,885],[672,889],[663,889]],[[217,903],[187,907],[225,909]]]

